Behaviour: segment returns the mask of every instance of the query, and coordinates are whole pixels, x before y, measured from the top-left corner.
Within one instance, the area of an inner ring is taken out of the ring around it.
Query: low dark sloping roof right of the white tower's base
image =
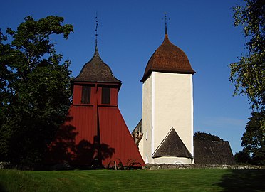
[[[235,164],[229,142],[194,141],[195,164]]]

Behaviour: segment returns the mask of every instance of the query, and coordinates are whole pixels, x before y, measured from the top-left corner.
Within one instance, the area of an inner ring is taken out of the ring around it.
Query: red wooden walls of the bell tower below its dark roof
[[[87,84],[87,83],[86,83]],[[83,83],[73,87],[73,105],[48,149],[46,162],[90,166],[143,166],[145,163],[118,109],[117,84],[90,83],[90,103],[81,104]],[[101,104],[103,86],[110,87],[110,104]],[[99,144],[100,143],[100,144]],[[100,151],[100,156],[98,156]],[[99,160],[98,160],[99,159]]]

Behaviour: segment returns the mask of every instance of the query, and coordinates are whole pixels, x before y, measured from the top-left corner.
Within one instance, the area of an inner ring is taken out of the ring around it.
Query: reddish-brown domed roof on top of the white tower
[[[152,71],[186,74],[195,73],[189,63],[187,55],[183,50],[170,42],[167,33],[165,34],[162,45],[155,50],[155,53],[152,54],[152,57],[148,61],[141,82],[144,82]]]

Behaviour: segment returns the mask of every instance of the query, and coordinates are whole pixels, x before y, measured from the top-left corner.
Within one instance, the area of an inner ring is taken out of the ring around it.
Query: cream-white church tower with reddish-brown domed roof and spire
[[[167,36],[142,77],[140,154],[149,164],[194,164],[194,70],[187,55]]]

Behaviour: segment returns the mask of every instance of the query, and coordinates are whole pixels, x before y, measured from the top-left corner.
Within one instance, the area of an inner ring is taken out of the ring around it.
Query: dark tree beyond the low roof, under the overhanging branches
[[[265,112],[253,112],[241,138],[243,151],[251,156],[252,164],[265,165]]]

